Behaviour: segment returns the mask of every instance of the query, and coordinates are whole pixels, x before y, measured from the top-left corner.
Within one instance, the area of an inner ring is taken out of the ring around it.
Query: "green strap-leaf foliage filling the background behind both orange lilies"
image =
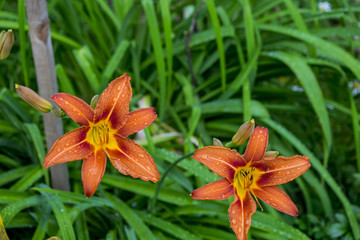
[[[89,102],[127,72],[131,108],[145,97],[159,115],[140,143],[162,174],[196,143],[228,142],[254,118],[269,128],[268,150],[307,155],[312,167],[282,186],[299,216],[262,204],[249,239],[360,239],[360,7],[329,2],[321,12],[315,0],[48,1],[59,88]],[[15,32],[0,63],[0,214],[10,239],[236,239],[231,200],[189,196],[217,179],[191,157],[161,188],[108,164],[86,199],[76,161],[72,191],[51,189],[41,114],[14,93],[14,83],[37,89],[24,0],[0,10],[0,28]]]

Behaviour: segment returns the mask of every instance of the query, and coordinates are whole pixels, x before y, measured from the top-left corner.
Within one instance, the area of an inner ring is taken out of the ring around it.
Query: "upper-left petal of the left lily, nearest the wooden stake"
[[[87,126],[92,122],[94,110],[80,98],[67,93],[57,93],[51,99],[77,124]]]

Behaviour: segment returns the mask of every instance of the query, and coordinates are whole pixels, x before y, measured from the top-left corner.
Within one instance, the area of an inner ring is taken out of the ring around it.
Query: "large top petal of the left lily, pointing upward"
[[[113,129],[122,127],[127,121],[131,97],[130,77],[124,73],[110,82],[101,94],[95,108],[94,122],[108,119]]]

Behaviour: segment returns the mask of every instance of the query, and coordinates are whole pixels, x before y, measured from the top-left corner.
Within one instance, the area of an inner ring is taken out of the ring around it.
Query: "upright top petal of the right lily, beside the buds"
[[[264,158],[268,144],[268,137],[267,128],[255,128],[244,153],[246,162],[256,162]]]

